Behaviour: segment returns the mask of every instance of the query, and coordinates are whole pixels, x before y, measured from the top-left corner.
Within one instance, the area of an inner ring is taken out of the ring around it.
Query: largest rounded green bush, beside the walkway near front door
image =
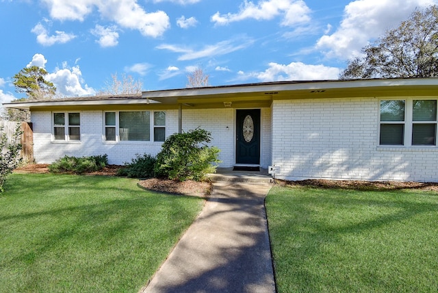
[[[179,181],[202,181],[205,175],[216,171],[220,162],[220,150],[216,146],[208,146],[209,142],[211,133],[204,129],[169,136],[157,155],[155,175]]]

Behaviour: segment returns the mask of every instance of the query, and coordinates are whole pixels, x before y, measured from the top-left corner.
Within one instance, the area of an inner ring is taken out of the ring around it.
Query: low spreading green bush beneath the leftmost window
[[[108,164],[108,156],[92,155],[90,157],[70,157],[68,155],[49,165],[52,173],[83,174],[103,169]]]

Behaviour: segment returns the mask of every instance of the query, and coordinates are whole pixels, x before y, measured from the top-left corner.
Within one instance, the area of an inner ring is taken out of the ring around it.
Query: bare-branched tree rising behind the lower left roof
[[[134,80],[131,75],[125,75],[125,73],[123,73],[121,79],[119,79],[117,73],[114,73],[111,75],[111,81],[107,82],[105,88],[100,90],[97,94],[140,94],[142,87],[142,81]]]

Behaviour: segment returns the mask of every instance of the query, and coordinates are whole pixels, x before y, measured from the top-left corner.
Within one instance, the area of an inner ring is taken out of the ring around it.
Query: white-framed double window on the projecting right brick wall
[[[380,145],[436,146],[437,100],[382,100]]]

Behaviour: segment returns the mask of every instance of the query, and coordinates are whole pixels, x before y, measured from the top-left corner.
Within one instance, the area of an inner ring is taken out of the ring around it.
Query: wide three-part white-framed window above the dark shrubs
[[[151,141],[151,133],[154,142],[164,142],[166,112],[105,112],[106,141]]]

